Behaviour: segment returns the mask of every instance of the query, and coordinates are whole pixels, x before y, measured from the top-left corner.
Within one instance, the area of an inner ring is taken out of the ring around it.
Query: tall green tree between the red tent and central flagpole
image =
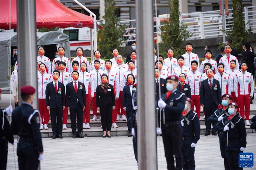
[[[120,24],[120,18],[115,15],[115,0],[105,0],[105,15],[103,29],[98,31],[98,46],[102,58],[113,57],[112,50],[122,45],[125,25]]]

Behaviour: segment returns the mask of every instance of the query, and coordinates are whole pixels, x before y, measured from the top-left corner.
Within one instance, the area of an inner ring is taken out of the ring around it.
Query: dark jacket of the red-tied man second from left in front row
[[[75,92],[73,81],[68,83],[66,86],[67,107],[76,108],[77,99],[82,107],[85,107],[86,105],[86,97],[85,97],[86,92],[85,92],[84,83],[80,81],[77,81],[77,82],[78,82],[77,93]]]

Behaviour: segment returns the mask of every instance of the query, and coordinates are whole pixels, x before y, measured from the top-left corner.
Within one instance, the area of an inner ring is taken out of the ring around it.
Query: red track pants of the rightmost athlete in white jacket
[[[240,115],[244,119],[244,108],[245,108],[245,119],[244,120],[249,120],[250,117],[250,95],[238,95],[238,106],[240,109]]]

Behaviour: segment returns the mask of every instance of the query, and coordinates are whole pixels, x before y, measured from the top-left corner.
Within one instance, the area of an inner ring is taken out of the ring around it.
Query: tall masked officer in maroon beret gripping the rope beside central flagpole
[[[167,161],[167,169],[182,169],[183,159],[181,152],[182,140],[182,111],[185,106],[185,95],[177,91],[179,77],[175,75],[166,78],[168,92],[158,101],[159,108],[163,109],[163,143]],[[175,155],[176,167],[173,155]]]

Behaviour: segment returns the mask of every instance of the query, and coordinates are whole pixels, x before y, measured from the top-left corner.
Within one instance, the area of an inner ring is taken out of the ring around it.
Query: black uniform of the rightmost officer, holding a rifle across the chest
[[[222,121],[218,122],[214,129],[219,132],[223,132],[223,125],[228,122],[228,117],[224,117]],[[241,147],[246,147],[246,130],[244,119],[237,116],[233,121],[235,126],[232,128],[229,125],[229,130],[224,132],[226,143],[225,143],[225,154],[228,159],[228,165],[230,169],[243,169],[238,165],[238,154]]]

